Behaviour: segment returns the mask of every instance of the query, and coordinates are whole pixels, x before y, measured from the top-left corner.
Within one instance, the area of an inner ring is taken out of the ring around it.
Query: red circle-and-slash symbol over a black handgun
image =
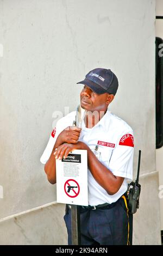
[[[80,192],[79,184],[76,180],[67,180],[64,186],[65,193],[68,197],[77,197]]]

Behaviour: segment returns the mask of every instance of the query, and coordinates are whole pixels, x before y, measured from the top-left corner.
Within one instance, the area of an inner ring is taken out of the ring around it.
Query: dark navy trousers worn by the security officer
[[[83,209],[80,206],[81,245],[127,245],[128,223],[126,205],[123,198],[111,207]],[[72,245],[71,209],[66,211],[64,220],[68,233],[68,245]],[[131,227],[132,228],[132,227]],[[130,237],[132,230],[130,230]]]

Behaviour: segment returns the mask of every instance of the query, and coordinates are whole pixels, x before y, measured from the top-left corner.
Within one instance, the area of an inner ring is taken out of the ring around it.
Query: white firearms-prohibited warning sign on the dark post
[[[87,151],[74,150],[66,159],[56,160],[57,202],[88,205]]]

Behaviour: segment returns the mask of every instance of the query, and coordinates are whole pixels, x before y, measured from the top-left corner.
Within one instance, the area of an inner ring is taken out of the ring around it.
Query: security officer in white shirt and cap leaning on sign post
[[[91,70],[79,84],[86,116],[82,129],[72,126],[76,112],[61,118],[41,156],[49,182],[56,183],[55,159],[74,149],[87,150],[89,206],[80,206],[82,245],[127,245],[129,217],[124,193],[133,178],[133,130],[108,106],[118,80],[110,69]],[[71,205],[64,216],[71,245]]]

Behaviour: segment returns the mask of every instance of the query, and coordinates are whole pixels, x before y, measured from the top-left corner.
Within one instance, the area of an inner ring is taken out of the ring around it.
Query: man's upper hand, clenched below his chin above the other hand
[[[65,130],[63,130],[59,134],[57,139],[60,141],[60,144],[63,144],[63,143],[76,144],[78,142],[81,130],[82,129],[77,126],[68,126]]]

